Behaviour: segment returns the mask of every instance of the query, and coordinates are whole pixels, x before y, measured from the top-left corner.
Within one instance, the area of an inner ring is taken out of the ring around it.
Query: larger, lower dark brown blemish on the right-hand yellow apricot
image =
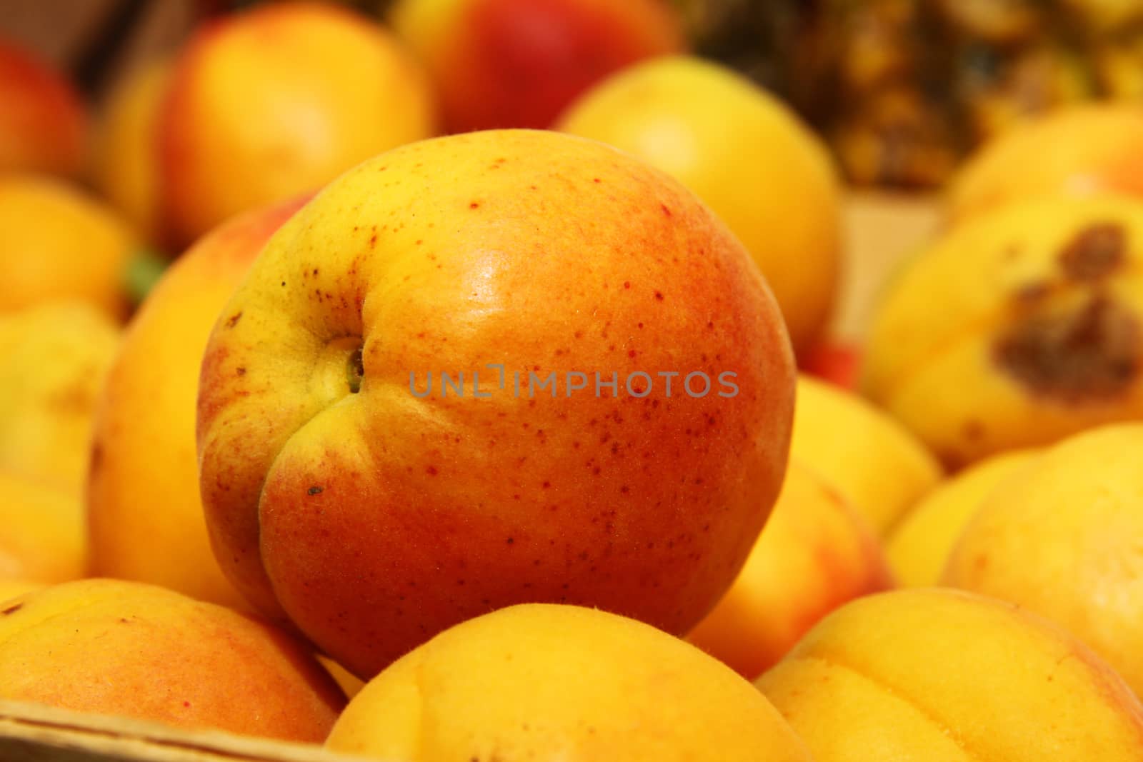
[[[1022,320],[992,347],[997,366],[1028,391],[1068,404],[1125,393],[1138,353],[1136,316],[1104,295],[1077,311]]]

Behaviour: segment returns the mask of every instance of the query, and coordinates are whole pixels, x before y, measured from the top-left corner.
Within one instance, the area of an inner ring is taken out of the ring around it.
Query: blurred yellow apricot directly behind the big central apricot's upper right
[[[555,128],[682,181],[750,249],[794,350],[818,338],[837,292],[841,195],[824,144],[782,102],[718,64],[661,57],[605,79]]]

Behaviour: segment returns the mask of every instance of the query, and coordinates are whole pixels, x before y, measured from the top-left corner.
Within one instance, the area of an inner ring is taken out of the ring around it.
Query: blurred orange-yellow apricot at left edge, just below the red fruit
[[[0,176],[0,313],[81,299],[122,319],[135,232],[104,202],[53,177]]]

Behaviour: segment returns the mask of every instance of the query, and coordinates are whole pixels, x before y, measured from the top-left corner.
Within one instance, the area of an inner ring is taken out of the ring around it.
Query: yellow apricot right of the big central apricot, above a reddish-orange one
[[[878,536],[941,480],[917,438],[866,400],[833,384],[798,378],[791,456],[853,505]]]

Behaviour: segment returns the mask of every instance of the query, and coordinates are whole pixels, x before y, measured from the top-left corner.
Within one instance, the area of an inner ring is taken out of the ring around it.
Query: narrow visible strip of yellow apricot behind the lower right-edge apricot
[[[940,583],[949,554],[981,504],[1036,460],[1039,452],[1013,450],[994,455],[942,482],[913,506],[885,544],[901,584],[924,587]]]

